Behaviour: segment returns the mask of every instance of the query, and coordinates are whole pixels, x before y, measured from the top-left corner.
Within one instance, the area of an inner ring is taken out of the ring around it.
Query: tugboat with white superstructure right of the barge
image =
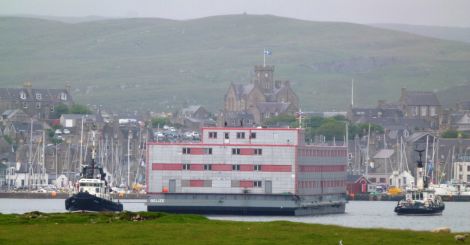
[[[423,175],[423,151],[416,150],[419,154],[416,188],[407,190],[405,199],[398,202],[395,207],[398,215],[439,215],[444,211],[444,202],[433,189],[429,189],[428,178]]]

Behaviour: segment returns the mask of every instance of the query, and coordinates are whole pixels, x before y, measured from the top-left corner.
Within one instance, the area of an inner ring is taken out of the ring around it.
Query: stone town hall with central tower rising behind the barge
[[[230,84],[219,126],[259,126],[270,117],[298,112],[299,97],[290,82],[274,80],[273,75],[274,66],[257,65],[249,84]]]

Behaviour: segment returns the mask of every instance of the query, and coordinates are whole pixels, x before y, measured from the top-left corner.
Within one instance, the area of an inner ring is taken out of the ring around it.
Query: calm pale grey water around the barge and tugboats
[[[142,200],[122,200],[128,211],[145,211]],[[30,211],[66,212],[64,199],[0,199],[0,213],[25,213]],[[276,217],[276,216],[209,216],[210,219],[236,221],[287,220],[302,223],[332,224],[348,227],[431,230],[450,227],[455,232],[470,232],[470,202],[446,202],[439,216],[397,216],[393,212],[396,202],[353,201],[346,205],[345,214]]]

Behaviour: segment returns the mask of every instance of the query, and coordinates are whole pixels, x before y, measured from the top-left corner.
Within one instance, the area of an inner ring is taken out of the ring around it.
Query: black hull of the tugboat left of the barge
[[[121,212],[122,203],[96,197],[87,192],[79,192],[65,199],[68,211]]]

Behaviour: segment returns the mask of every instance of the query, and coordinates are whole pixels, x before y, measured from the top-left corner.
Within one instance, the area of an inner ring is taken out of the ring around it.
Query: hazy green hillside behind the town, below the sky
[[[441,90],[470,80],[470,45],[379,28],[274,16],[82,23],[0,18],[0,86],[64,87],[119,110],[221,108],[230,82],[248,82],[263,48],[303,110],[396,100],[400,87]]]

